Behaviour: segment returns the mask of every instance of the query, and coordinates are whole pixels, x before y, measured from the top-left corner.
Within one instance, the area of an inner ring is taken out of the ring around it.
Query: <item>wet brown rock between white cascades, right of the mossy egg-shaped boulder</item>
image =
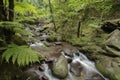
[[[75,75],[75,76],[80,76],[80,73],[82,71],[82,66],[81,64],[77,61],[74,63],[71,63],[71,68],[70,71]]]

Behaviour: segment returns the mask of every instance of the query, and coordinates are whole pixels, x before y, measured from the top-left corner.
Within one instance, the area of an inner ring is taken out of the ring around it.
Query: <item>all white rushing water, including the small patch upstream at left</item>
[[[41,43],[35,43],[36,46],[41,46]],[[32,44],[31,46],[35,46],[34,44]],[[65,53],[62,51],[61,55],[65,56],[66,58],[71,58],[72,62],[71,63],[80,63],[80,65],[83,68],[83,72],[84,72],[84,79],[81,80],[108,80],[107,78],[105,78],[95,67],[95,63],[90,61],[84,54],[77,52],[73,53],[73,57],[70,57],[68,55],[65,55]],[[71,63],[68,63],[68,77],[66,79],[62,79],[62,80],[79,80],[76,79],[76,76],[72,74],[72,72],[70,71],[71,68]],[[47,63],[43,63],[42,64],[43,67],[45,68],[45,70],[42,72],[47,78],[48,80],[61,80],[57,77],[54,77],[52,75],[52,71],[49,68]],[[39,74],[39,71],[37,71],[38,75],[41,75],[41,73]],[[97,77],[93,77],[95,75],[97,75]]]

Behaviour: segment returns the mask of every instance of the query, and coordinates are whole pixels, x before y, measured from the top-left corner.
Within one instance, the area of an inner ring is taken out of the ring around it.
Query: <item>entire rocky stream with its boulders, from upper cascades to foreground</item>
[[[53,39],[53,42],[49,42],[51,41],[51,34],[44,32],[44,30],[51,27],[52,24],[37,27],[35,30],[27,28],[27,30],[35,34],[33,36],[34,39],[30,38],[30,47],[44,56],[45,60],[39,65],[28,68],[23,74],[26,76],[21,76],[20,80],[28,77],[31,77],[30,79],[32,80],[107,80],[96,69],[94,62],[88,60],[84,54],[80,53],[85,51],[81,47],[61,42],[57,38]]]

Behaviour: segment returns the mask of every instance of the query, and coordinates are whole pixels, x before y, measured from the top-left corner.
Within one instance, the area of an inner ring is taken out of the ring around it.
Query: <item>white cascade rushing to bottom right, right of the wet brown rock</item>
[[[73,63],[79,62],[86,73],[86,76],[89,76],[90,73],[95,72],[99,74],[104,80],[108,80],[105,78],[95,67],[95,63],[90,61],[84,54],[79,52],[79,56],[74,54]]]

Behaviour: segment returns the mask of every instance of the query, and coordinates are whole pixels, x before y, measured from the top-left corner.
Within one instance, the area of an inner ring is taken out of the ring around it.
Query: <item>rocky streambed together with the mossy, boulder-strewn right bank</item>
[[[48,42],[50,34],[44,33],[44,30],[50,28],[50,25],[31,30],[35,36],[34,39],[30,39],[30,47],[43,55],[45,60],[25,70],[20,80],[119,80],[118,29],[108,34],[104,45],[86,45],[86,49],[66,42]]]

